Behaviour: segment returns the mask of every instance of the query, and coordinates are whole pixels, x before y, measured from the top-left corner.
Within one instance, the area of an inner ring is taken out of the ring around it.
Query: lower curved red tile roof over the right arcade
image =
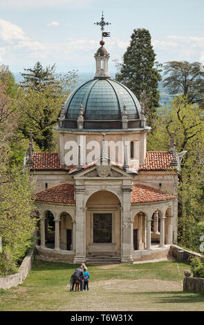
[[[131,203],[147,203],[165,201],[176,198],[176,195],[166,194],[154,187],[136,184],[133,185]]]

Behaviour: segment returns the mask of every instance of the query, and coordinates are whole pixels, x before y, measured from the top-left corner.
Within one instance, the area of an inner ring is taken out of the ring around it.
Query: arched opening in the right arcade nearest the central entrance
[[[133,250],[146,248],[146,221],[145,214],[139,212],[133,220]]]

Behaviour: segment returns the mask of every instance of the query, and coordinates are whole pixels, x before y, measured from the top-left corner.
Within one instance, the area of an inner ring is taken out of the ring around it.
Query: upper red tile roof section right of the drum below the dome
[[[145,165],[140,170],[168,170],[171,167],[172,155],[169,151],[147,151]]]

